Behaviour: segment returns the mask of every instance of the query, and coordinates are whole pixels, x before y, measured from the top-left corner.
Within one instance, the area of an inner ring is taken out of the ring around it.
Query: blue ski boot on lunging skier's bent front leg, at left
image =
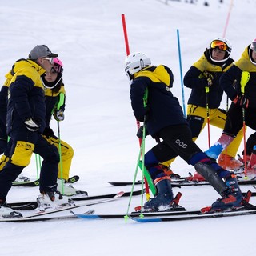
[[[144,210],[158,211],[160,207],[169,207],[170,202],[174,200],[169,176],[156,178],[154,185],[157,187],[157,194],[144,204]]]

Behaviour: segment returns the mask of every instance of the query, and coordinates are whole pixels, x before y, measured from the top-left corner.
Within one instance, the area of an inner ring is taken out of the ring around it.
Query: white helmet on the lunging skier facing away
[[[142,70],[142,68],[151,65],[151,60],[145,54],[133,53],[126,57],[125,72],[128,78],[130,75]]]

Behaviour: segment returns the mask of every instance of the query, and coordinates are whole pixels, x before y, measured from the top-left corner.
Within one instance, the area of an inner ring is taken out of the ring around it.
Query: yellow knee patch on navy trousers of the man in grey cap
[[[30,158],[33,151],[33,143],[18,141],[16,142],[14,153],[11,155],[10,162],[15,166],[26,167],[30,163]]]

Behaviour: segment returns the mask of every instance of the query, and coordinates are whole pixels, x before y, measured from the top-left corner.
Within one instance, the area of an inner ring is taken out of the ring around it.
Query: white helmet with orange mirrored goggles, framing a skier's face
[[[218,48],[219,50],[224,50],[226,52],[226,54],[222,60],[216,61],[216,60],[214,60],[214,58],[212,58],[211,53],[214,48]],[[213,62],[226,62],[226,60],[228,58],[230,58],[231,50],[232,50],[232,46],[228,39],[215,38],[212,42],[210,42],[210,59]]]

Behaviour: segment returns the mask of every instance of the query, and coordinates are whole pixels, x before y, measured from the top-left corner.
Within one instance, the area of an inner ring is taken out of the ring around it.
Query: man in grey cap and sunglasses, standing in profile
[[[0,171],[0,216],[14,215],[6,204],[12,182],[30,163],[31,155],[43,158],[40,174],[40,198],[55,201],[59,155],[56,146],[42,137],[46,126],[46,106],[41,76],[50,72],[53,58],[58,57],[46,45],[35,46],[27,59],[19,59],[6,74],[5,86],[9,89],[6,109],[7,148],[10,154]],[[56,200],[58,201],[58,200]]]

